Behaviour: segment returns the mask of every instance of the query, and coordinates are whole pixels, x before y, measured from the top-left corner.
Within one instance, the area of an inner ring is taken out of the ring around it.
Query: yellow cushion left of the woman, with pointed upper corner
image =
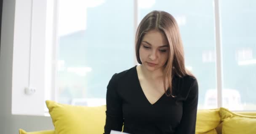
[[[103,134],[106,106],[72,106],[46,101],[56,134]]]

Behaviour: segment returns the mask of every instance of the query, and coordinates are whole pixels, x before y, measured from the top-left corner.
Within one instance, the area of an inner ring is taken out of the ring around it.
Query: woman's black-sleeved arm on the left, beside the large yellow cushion
[[[123,112],[122,100],[117,93],[117,74],[114,74],[107,85],[107,111],[104,134],[109,134],[111,130],[122,131]]]

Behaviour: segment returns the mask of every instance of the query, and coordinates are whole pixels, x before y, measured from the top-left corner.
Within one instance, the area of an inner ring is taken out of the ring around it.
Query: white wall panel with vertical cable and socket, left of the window
[[[45,105],[45,0],[16,0],[12,114],[43,115]],[[25,93],[25,89],[27,94]]]

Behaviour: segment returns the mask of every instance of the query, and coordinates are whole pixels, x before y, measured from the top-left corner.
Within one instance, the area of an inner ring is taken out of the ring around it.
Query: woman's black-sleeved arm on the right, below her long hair
[[[182,119],[175,134],[195,134],[197,103],[198,84],[197,80],[195,79],[190,86],[188,97],[183,103]]]

